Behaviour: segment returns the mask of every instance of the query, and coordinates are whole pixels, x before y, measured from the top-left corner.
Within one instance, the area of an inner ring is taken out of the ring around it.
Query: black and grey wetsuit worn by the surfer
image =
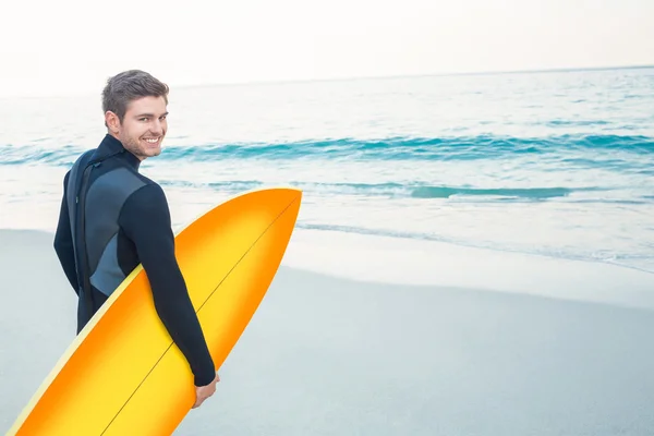
[[[108,134],[64,177],[55,250],[78,295],[77,334],[142,263],[161,322],[205,386],[215,366],[174,257],[168,202],[140,164]]]

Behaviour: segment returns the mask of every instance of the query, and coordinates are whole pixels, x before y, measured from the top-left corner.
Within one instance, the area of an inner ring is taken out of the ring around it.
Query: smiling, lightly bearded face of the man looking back
[[[158,156],[168,130],[168,111],[164,97],[143,97],[132,100],[122,123],[108,112],[111,133],[138,159]]]

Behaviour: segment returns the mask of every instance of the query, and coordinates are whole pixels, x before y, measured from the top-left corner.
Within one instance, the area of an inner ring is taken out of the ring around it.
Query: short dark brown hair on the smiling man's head
[[[167,84],[145,71],[123,71],[107,81],[102,90],[102,111],[112,111],[122,122],[130,101],[142,97],[164,97],[168,104],[168,92]]]

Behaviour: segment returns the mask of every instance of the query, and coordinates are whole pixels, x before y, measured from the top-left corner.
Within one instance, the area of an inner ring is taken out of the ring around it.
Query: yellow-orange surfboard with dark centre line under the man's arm
[[[279,268],[301,198],[293,189],[250,192],[175,237],[217,368]],[[194,401],[193,375],[155,311],[140,265],[75,338],[9,435],[170,435]]]

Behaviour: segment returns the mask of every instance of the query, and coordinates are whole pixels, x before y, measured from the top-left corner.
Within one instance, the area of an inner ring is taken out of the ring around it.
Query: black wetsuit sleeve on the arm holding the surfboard
[[[170,210],[161,187],[147,184],[134,192],[123,205],[119,225],[136,246],[157,313],[186,358],[195,386],[208,385],[216,370],[174,256]]]

